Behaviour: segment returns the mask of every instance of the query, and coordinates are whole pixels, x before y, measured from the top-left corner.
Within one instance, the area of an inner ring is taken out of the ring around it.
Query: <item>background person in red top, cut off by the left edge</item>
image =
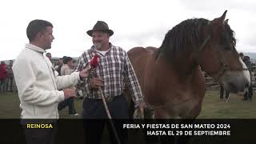
[[[8,77],[7,66],[5,62],[0,64],[0,92],[6,92],[6,79]]]

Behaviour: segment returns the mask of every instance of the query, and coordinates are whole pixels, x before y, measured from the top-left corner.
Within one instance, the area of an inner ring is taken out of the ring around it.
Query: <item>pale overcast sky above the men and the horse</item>
[[[26,26],[44,19],[54,25],[53,57],[78,57],[92,45],[86,30],[105,21],[114,35],[110,42],[126,51],[134,46],[159,47],[172,27],[188,18],[212,20],[228,10],[239,52],[256,53],[254,0],[2,0],[0,60],[14,59],[28,42]]]

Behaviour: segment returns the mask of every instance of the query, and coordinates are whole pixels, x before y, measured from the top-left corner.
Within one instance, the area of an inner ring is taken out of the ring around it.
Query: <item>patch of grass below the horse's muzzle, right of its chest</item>
[[[224,102],[218,90],[207,90],[198,118],[256,118],[254,96],[252,102],[244,102],[241,96],[230,94],[229,101]]]

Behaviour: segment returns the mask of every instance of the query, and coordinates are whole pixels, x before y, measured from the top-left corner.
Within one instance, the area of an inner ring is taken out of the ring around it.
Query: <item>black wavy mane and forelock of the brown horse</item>
[[[162,53],[166,58],[172,58],[174,54],[181,54],[186,49],[199,47],[205,40],[202,38],[202,27],[208,25],[209,20],[204,18],[187,19],[169,30],[162,42],[162,46],[156,51],[156,58]],[[234,31],[230,29],[228,24],[225,24],[226,40],[236,45]],[[231,38],[231,40],[230,40]]]

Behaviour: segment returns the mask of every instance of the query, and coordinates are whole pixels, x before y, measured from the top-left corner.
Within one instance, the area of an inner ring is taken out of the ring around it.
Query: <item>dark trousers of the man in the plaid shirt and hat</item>
[[[114,98],[113,101],[107,102],[112,120],[106,115],[106,110],[102,100],[85,98],[83,102],[82,117],[84,118],[83,127],[85,132],[86,144],[99,144],[102,141],[102,132],[105,124],[110,136],[110,143],[118,143],[114,137],[114,130],[110,125],[110,121],[114,123],[115,130],[121,143],[127,143],[128,131],[122,129],[122,124],[128,121],[128,103],[121,94]],[[103,142],[105,143],[105,142]]]

